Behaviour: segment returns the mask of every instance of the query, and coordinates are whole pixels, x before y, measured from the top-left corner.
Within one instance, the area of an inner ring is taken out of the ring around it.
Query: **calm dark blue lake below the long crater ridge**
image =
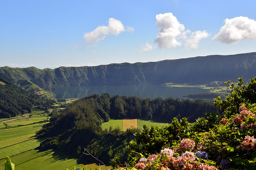
[[[129,86],[67,86],[56,87],[52,90],[53,98],[70,99],[82,98],[92,94],[109,93],[112,95],[138,96],[142,98],[168,97],[183,98],[191,93],[206,93],[207,89],[194,87],[165,87],[154,84],[134,84]]]

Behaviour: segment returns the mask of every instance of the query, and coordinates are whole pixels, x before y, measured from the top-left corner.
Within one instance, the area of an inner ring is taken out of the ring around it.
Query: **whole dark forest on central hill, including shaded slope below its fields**
[[[174,117],[187,117],[190,122],[194,122],[211,111],[219,112],[213,103],[200,99],[143,99],[137,96],[94,94],[76,100],[65,110],[53,110],[50,123],[45,124],[36,135],[38,138],[54,136],[40,144],[41,150],[58,148],[78,157],[84,152],[84,147],[90,145],[89,151],[102,161],[109,162],[114,156],[125,160],[125,147],[134,139],[133,134],[138,129],[122,132],[110,128],[102,131],[100,125],[110,118],[145,118],[170,123]],[[89,159],[90,156],[83,155],[82,158]]]

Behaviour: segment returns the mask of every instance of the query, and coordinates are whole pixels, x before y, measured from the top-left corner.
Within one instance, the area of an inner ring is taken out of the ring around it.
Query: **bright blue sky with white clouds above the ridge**
[[[0,67],[57,68],[256,51],[256,1],[0,1]]]

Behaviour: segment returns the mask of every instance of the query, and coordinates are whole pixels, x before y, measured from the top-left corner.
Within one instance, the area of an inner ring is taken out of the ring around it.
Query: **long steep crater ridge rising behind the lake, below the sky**
[[[147,63],[120,63],[92,67],[0,67],[0,77],[14,82],[29,80],[43,88],[69,85],[129,85],[235,81],[250,79],[256,72],[256,53],[211,55]],[[206,71],[207,70],[207,71]]]

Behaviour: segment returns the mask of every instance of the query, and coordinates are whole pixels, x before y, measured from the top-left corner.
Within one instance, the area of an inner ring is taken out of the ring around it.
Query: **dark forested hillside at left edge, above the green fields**
[[[35,109],[47,110],[53,100],[40,97],[15,84],[0,78],[5,85],[0,84],[0,117],[9,118],[31,113]]]

